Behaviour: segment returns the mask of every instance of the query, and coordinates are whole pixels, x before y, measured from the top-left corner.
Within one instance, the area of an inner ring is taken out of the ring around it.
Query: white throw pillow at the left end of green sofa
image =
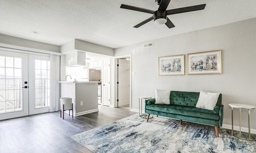
[[[156,89],[156,102],[155,104],[170,104],[171,90]]]

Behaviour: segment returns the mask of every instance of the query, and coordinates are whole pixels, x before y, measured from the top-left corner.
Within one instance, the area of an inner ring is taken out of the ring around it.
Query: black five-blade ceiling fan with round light
[[[170,1],[171,0],[155,0],[157,5],[159,5],[159,8],[157,11],[149,10],[146,8],[140,8],[140,7],[136,7],[136,6],[129,6],[126,4],[122,4],[120,6],[120,8],[153,14],[152,17],[149,17],[148,19],[135,25],[134,28],[139,28],[140,26],[143,26],[144,24],[148,23],[149,21],[151,21],[153,19],[154,19],[154,23],[157,25],[165,24],[168,28],[174,28],[175,27],[174,24],[172,23],[171,20],[169,20],[167,15],[203,10],[206,6],[206,4],[201,4],[201,5],[196,5],[196,6],[188,6],[188,7],[183,7],[183,8],[175,8],[175,9],[166,10]]]

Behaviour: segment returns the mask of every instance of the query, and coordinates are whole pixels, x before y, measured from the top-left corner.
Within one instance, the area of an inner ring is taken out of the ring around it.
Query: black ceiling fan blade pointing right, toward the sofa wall
[[[190,11],[199,11],[199,10],[203,10],[205,8],[205,6],[206,6],[206,4],[201,4],[201,5],[196,5],[196,6],[175,8],[175,9],[167,10],[167,15],[185,13],[185,12],[190,12]]]

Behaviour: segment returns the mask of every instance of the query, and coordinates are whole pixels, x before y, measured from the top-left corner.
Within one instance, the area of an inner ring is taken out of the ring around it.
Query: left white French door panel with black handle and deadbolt
[[[28,54],[0,50],[0,120],[29,115],[27,82]]]

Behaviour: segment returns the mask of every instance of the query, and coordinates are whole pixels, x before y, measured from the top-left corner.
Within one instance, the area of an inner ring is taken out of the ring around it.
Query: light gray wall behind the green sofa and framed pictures
[[[115,56],[131,54],[131,107],[138,109],[139,96],[155,96],[154,90],[221,92],[224,124],[231,125],[229,103],[256,105],[256,18],[236,23],[151,40],[153,47],[142,43],[116,48]],[[143,27],[141,27],[143,28]],[[161,28],[161,27],[160,27]],[[176,27],[179,28],[179,27]],[[140,30],[140,29],[138,29]],[[169,29],[166,28],[168,31]],[[136,36],[134,36],[136,37]],[[222,74],[187,75],[186,54],[222,50]],[[158,57],[185,54],[184,76],[158,76]],[[239,111],[234,112],[239,125]],[[243,111],[243,127],[248,127],[247,111]],[[256,111],[251,112],[256,129]]]

